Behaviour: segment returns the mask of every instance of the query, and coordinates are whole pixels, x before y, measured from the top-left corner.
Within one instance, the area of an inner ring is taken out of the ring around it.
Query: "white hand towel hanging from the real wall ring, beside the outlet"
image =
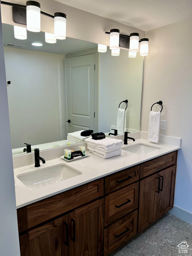
[[[148,140],[152,142],[159,141],[161,113],[151,111],[149,115],[149,134]]]

